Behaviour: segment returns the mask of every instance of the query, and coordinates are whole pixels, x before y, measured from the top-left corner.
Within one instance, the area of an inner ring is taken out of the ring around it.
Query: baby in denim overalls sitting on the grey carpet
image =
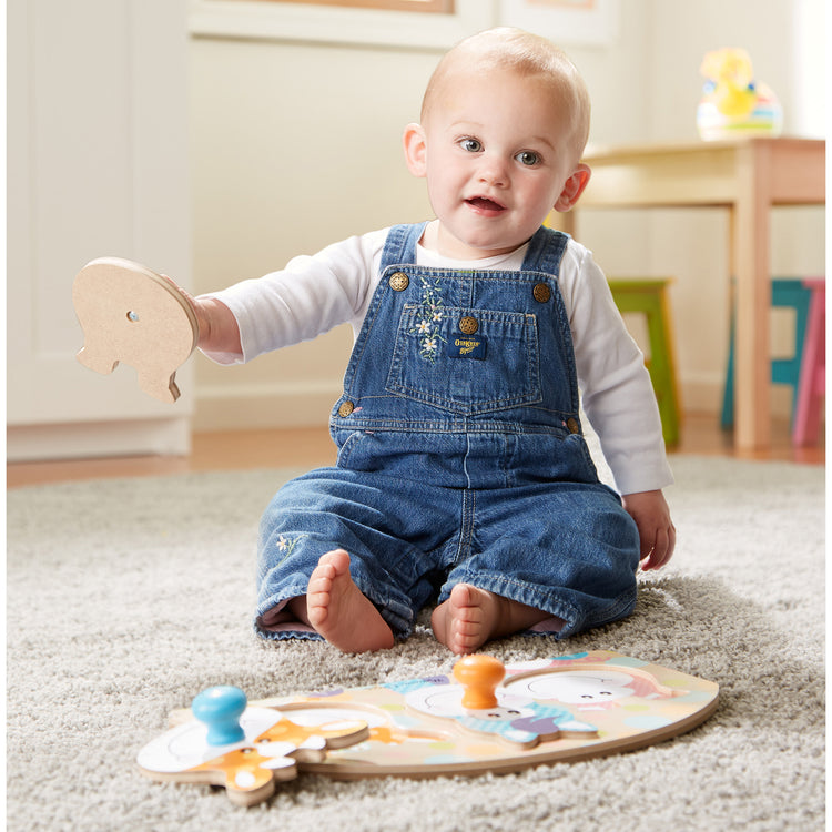
[[[629,615],[671,557],[672,481],[643,358],[591,254],[542,226],[590,177],[571,62],[514,29],[439,62],[404,133],[436,219],[352,237],[192,298],[200,347],[250,361],[349,322],[337,464],[266,509],[255,629],[347,652],[407,637],[435,603],[455,653],[566,638]],[[623,495],[598,480],[595,426]]]

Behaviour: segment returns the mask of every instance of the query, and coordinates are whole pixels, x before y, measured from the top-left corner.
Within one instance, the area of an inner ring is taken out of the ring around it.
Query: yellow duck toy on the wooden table
[[[708,52],[700,69],[708,79],[697,110],[699,134],[706,141],[745,135],[779,135],[783,111],[777,95],[754,81],[744,49]]]

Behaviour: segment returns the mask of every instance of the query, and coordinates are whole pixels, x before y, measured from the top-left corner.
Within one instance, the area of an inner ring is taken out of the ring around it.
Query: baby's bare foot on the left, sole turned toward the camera
[[[349,575],[349,555],[335,549],[322,556],[310,576],[306,620],[344,652],[393,647],[393,631]]]

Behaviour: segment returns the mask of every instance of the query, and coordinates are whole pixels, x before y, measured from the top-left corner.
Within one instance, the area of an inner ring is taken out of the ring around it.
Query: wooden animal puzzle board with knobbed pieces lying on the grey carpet
[[[253,703],[240,718],[245,739],[229,745],[211,745],[210,729],[177,711],[139,764],[154,779],[225,784],[247,805],[297,769],[341,780],[505,773],[630,751],[691,730],[718,699],[714,682],[610,650],[506,667],[469,656],[453,678]]]

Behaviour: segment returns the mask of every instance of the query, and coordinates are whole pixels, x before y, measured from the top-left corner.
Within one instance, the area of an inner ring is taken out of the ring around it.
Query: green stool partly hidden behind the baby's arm
[[[609,281],[618,311],[639,313],[647,319],[650,355],[645,364],[659,404],[664,444],[679,443],[679,393],[676,386],[676,357],[668,303],[669,277],[615,278]]]

